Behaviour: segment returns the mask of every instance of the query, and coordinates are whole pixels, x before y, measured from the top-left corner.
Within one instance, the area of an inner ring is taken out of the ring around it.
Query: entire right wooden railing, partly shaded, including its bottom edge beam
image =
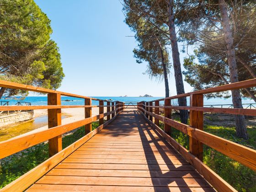
[[[194,165],[197,171],[199,171],[208,180],[208,182],[213,185],[213,187],[215,187],[218,191],[235,191],[235,189],[226,181],[220,178],[208,166],[203,164],[203,144],[208,145],[209,147],[219,151],[233,160],[240,162],[254,171],[256,171],[256,150],[204,132],[203,112],[256,116],[256,109],[203,107],[203,95],[255,86],[256,79],[246,80],[229,85],[166,97],[159,100],[149,102],[141,101],[138,102],[138,109],[142,114],[144,114],[144,117],[148,120],[148,122],[155,127],[160,134],[187,159],[187,161]],[[190,96],[189,107],[171,106],[172,99],[187,96]],[[159,101],[164,101],[164,106],[160,106]],[[155,108],[155,112],[153,112],[153,108]],[[159,109],[164,109],[164,117],[160,116]],[[190,110],[190,125],[172,120],[171,110]],[[155,117],[154,122],[153,117]],[[159,127],[159,121],[164,123],[164,130]],[[189,135],[189,150],[171,138],[170,135],[172,128],[176,128],[182,133]]]

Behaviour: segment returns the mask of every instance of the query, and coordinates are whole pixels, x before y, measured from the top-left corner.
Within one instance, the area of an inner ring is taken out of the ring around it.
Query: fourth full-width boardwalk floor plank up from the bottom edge
[[[142,165],[104,163],[59,163],[56,169],[106,169],[106,170],[150,170],[150,171],[195,171],[192,165]]]

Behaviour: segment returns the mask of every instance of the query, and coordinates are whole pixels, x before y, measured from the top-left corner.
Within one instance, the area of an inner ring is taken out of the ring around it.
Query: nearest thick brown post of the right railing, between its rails
[[[190,107],[203,107],[203,95],[190,95]],[[190,126],[203,130],[203,112],[190,110]],[[203,161],[203,144],[189,137],[189,151]]]

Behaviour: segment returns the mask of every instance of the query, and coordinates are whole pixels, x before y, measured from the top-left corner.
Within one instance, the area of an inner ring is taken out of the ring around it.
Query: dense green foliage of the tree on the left
[[[0,0],[0,79],[57,89],[64,78],[50,20],[34,0]],[[5,95],[26,96],[7,89]]]

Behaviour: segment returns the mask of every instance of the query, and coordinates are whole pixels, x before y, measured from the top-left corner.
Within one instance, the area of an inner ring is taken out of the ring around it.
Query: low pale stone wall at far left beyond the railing
[[[34,110],[12,113],[10,115],[0,116],[0,127],[4,125],[9,125],[12,123],[18,123],[21,121],[27,121],[32,119],[34,116]]]

